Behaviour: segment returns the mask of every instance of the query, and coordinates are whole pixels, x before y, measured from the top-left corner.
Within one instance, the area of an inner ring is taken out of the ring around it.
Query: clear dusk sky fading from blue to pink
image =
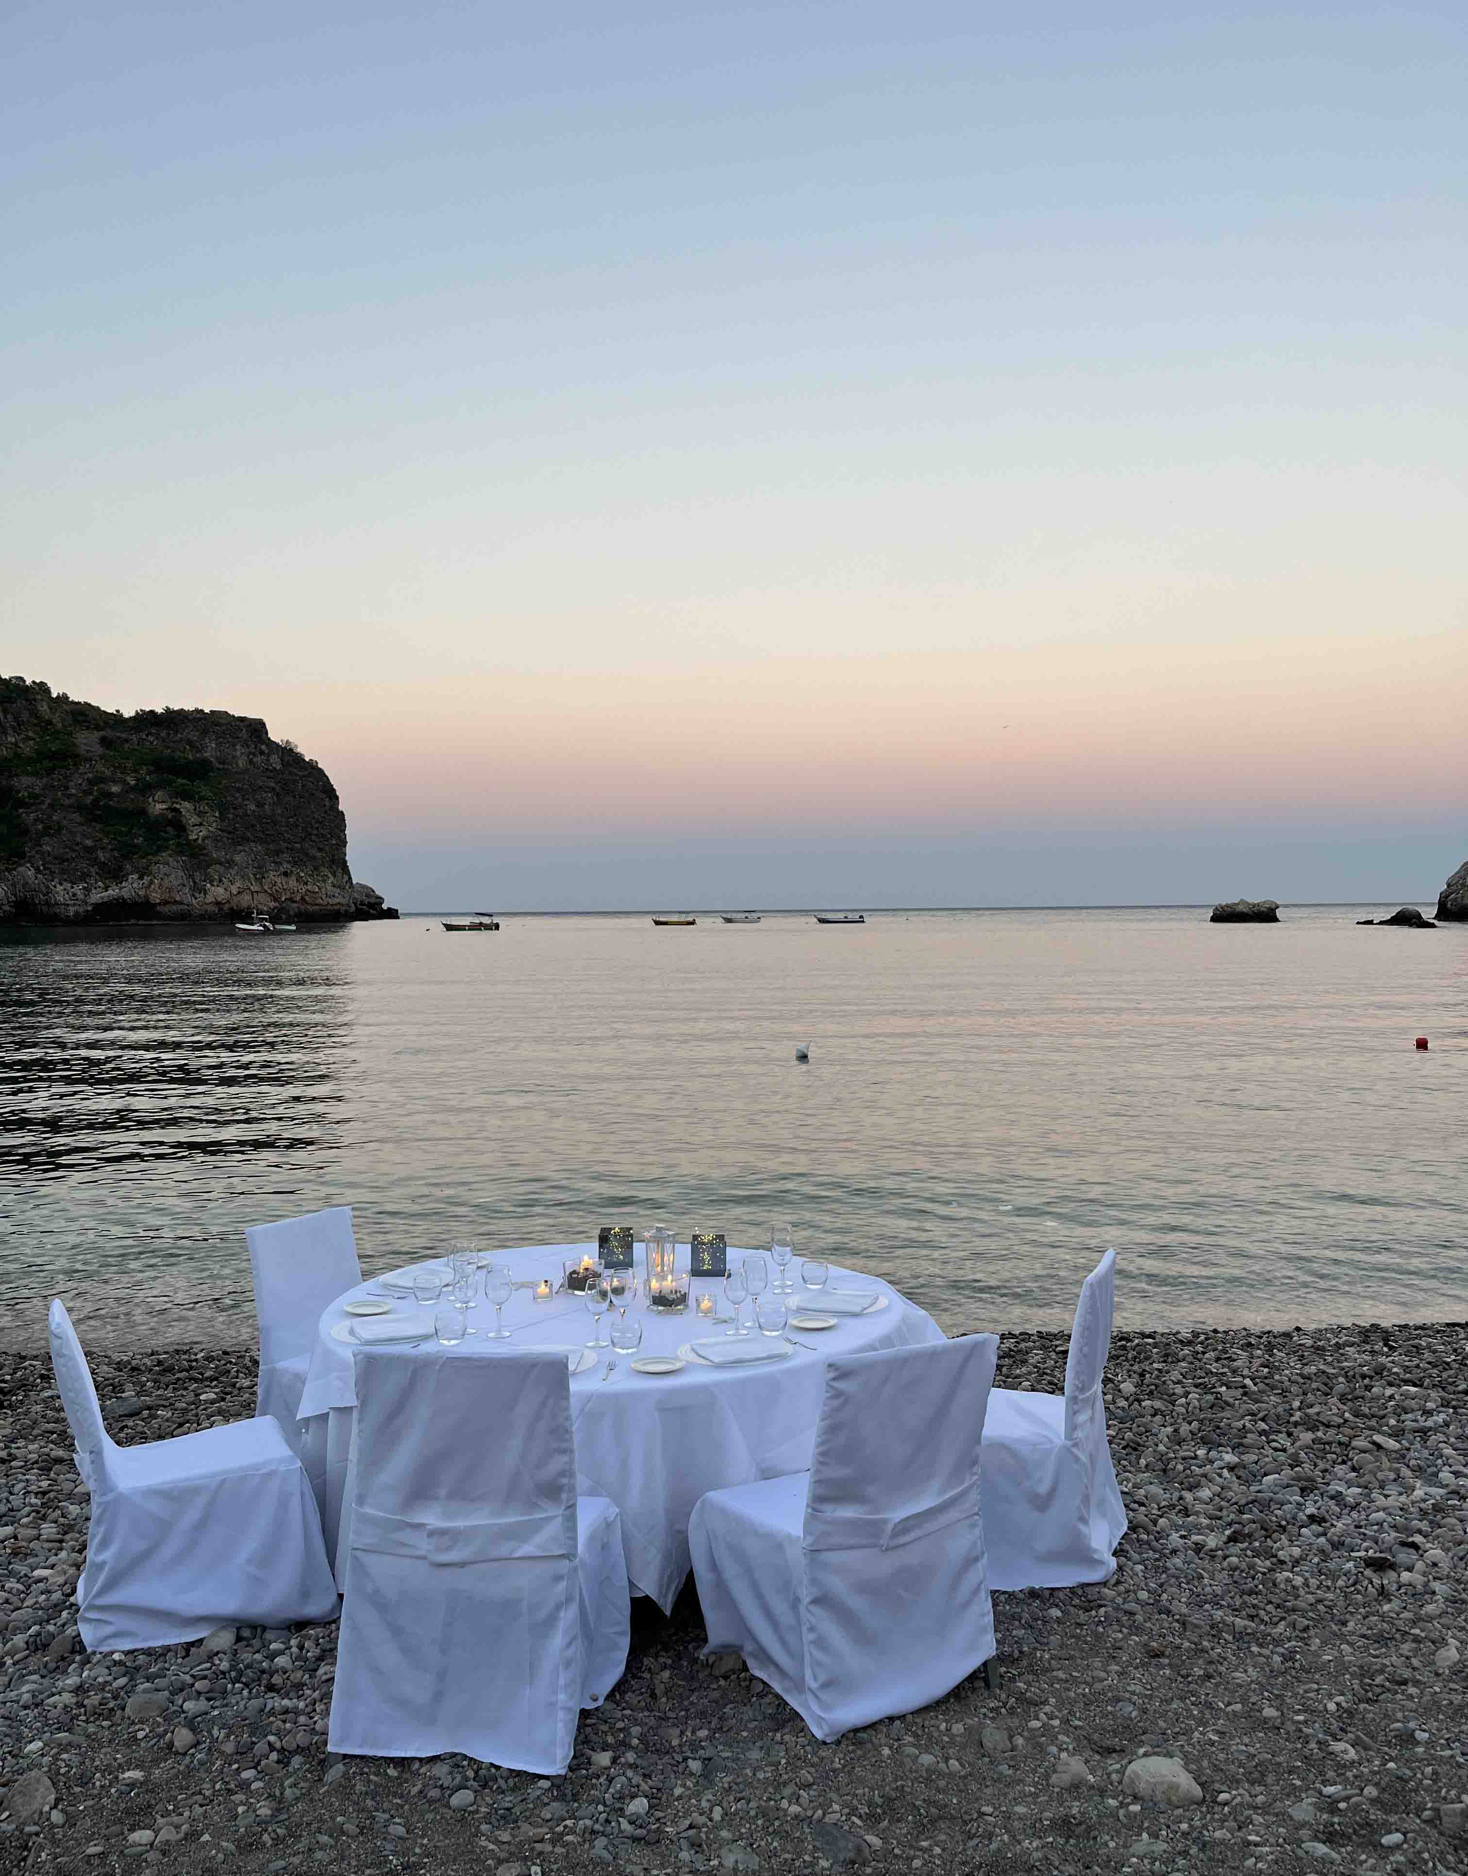
[[[1460,6],[9,6],[0,672],[452,910],[1430,899]]]

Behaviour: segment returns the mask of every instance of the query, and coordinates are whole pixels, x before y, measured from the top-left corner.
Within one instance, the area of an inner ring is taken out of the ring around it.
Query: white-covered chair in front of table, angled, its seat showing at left
[[[978,1450],[997,1349],[828,1362],[811,1471],[693,1508],[704,1653],[738,1649],[817,1739],[925,1707],[993,1657]]]

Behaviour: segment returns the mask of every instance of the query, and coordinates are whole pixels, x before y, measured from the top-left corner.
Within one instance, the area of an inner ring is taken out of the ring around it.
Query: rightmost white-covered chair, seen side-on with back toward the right
[[[1106,1443],[1102,1373],[1111,1347],[1117,1253],[1081,1285],[1064,1396],[995,1388],[984,1422],[984,1535],[991,1589],[1104,1583],[1126,1531]]]

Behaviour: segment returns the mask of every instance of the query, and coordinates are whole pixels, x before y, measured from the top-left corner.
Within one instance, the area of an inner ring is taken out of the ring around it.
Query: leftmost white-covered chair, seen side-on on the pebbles
[[[71,1317],[51,1304],[51,1366],[92,1493],[77,1626],[88,1649],[197,1642],[223,1623],[330,1621],[315,1499],[274,1420],[116,1446]]]

